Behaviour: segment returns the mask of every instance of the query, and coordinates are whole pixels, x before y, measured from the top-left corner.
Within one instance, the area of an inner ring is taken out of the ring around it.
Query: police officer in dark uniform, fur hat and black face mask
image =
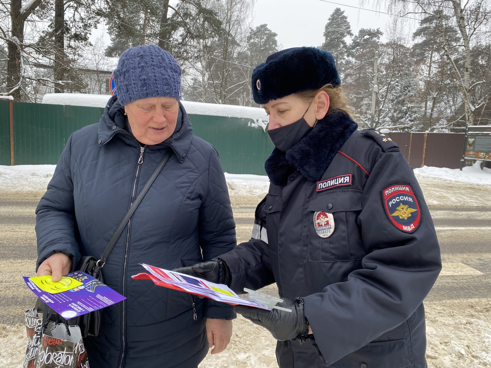
[[[234,311],[271,331],[281,368],[424,368],[435,227],[399,147],[357,130],[340,84],[332,55],[316,48],[254,69],[275,148],[252,239],[179,271],[238,293],[276,282],[291,313]]]

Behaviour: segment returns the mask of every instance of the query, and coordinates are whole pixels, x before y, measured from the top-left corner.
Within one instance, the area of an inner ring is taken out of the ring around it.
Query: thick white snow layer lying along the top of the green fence
[[[106,107],[110,98],[110,95],[90,95],[85,93],[47,93],[43,96],[41,104]],[[188,114],[253,119],[255,122],[250,126],[263,128],[263,130],[269,120],[264,109],[258,107],[205,104],[192,101],[181,101],[181,103]]]

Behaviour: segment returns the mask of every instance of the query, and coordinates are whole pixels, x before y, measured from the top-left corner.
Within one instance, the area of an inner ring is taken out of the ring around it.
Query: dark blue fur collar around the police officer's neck
[[[344,112],[327,114],[286,154],[277,148],[273,149],[264,163],[271,183],[278,186],[286,184],[288,174],[291,173],[285,170],[288,165],[294,166],[308,180],[321,180],[338,150],[357,128],[358,125]]]

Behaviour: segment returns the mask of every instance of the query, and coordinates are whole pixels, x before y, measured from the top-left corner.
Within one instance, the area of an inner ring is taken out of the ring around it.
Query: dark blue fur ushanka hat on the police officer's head
[[[252,97],[264,105],[292,93],[341,84],[334,58],[315,47],[294,47],[273,53],[255,67],[251,77]]]

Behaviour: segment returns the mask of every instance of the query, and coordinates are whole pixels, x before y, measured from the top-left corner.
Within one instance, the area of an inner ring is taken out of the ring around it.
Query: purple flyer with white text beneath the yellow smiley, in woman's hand
[[[23,276],[26,285],[36,296],[65,319],[97,311],[126,299],[101,281],[86,273],[75,271],[64,275],[82,283],[77,288],[50,293],[39,289],[34,282]]]

